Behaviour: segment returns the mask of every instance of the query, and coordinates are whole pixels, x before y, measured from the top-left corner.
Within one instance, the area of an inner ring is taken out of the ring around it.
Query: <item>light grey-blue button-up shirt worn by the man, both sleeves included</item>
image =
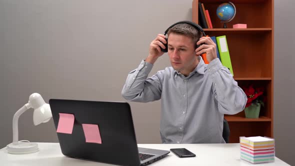
[[[163,143],[224,143],[223,115],[244,109],[247,97],[218,58],[199,63],[188,76],[172,67],[148,77],[153,64],[141,61],[122,89],[129,101],[161,99]]]

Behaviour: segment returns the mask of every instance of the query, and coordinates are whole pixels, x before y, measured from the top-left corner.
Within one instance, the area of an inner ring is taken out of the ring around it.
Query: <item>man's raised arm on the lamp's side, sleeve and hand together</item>
[[[128,74],[121,91],[125,99],[148,102],[161,98],[163,71],[158,71],[149,78],[147,78],[147,75],[156,59],[164,53],[160,49],[160,47],[165,48],[163,43],[166,43],[165,35],[158,34],[149,44],[146,59],[142,60],[139,66]]]

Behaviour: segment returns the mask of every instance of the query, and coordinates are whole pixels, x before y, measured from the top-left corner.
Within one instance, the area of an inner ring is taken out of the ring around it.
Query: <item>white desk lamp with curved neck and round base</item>
[[[42,122],[47,122],[52,117],[49,104],[45,103],[42,96],[38,93],[32,93],[29,100],[13,115],[12,119],[12,132],[13,142],[7,144],[7,151],[11,154],[26,154],[33,153],[39,150],[38,144],[29,142],[27,140],[18,141],[18,117],[27,109],[33,108],[33,122],[38,125]]]

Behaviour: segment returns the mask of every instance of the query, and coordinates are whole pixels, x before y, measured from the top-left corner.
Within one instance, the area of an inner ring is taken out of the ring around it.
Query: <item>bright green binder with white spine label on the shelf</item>
[[[229,69],[230,73],[233,76],[233,70],[232,70],[232,66],[231,66],[226,36],[222,35],[222,36],[216,37],[216,42],[217,42],[217,47],[218,47],[221,63],[223,64],[223,66],[225,66]]]

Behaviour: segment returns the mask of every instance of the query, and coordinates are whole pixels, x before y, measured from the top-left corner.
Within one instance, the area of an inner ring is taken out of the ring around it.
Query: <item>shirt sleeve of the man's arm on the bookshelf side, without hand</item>
[[[235,114],[242,111],[247,102],[247,96],[237,85],[229,70],[218,58],[208,64],[208,72],[212,78],[212,92],[218,103],[218,110],[224,114]]]

